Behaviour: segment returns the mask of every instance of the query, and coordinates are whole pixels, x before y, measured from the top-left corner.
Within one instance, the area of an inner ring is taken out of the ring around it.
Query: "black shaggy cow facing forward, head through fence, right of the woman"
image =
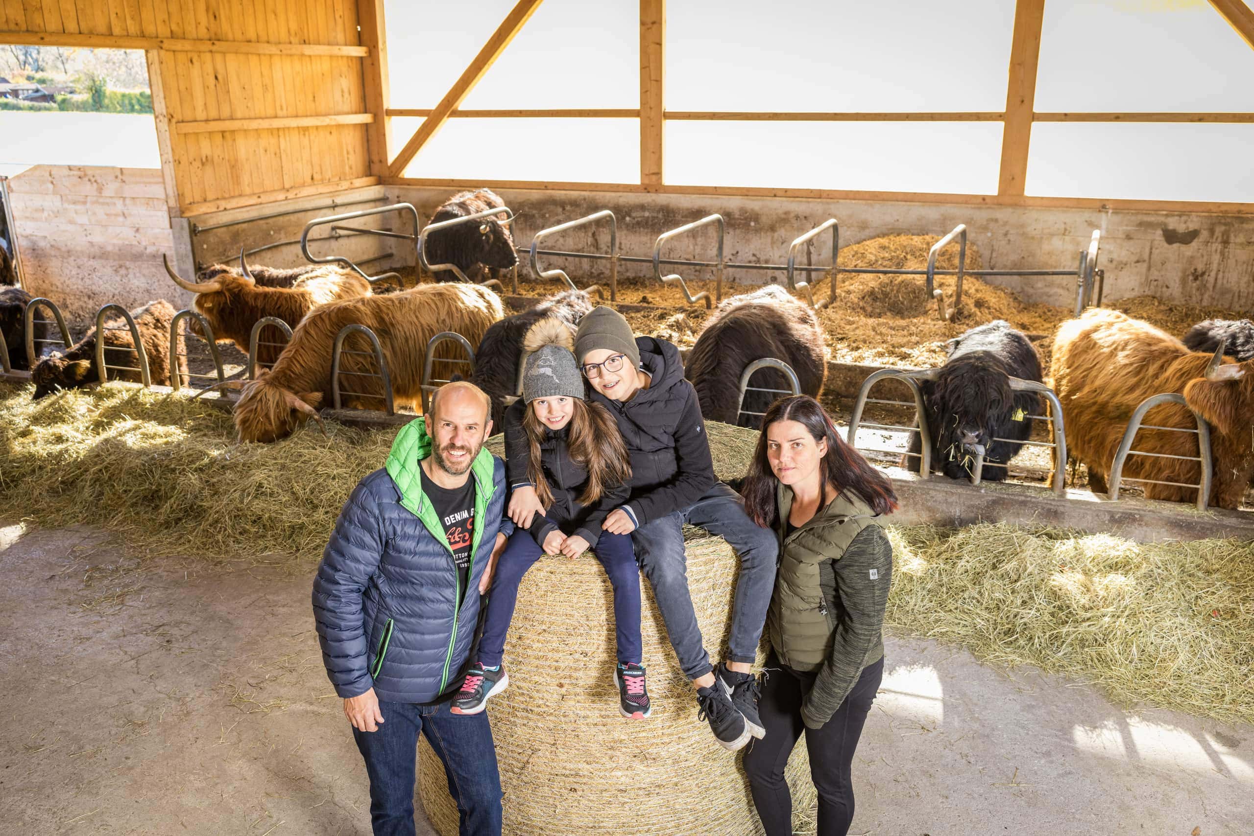
[[[983,454],[982,479],[1001,481],[1006,468],[1032,435],[1031,415],[1040,396],[1011,390],[1009,379],[1041,382],[1041,358],[1028,338],[1004,320],[974,327],[946,343],[948,358],[940,368],[912,375],[919,380],[932,432],[932,470],[951,479],[966,479],[976,456]],[[994,441],[993,439],[1013,439]],[[910,452],[920,452],[917,432]],[[907,456],[909,470],[922,462]]]

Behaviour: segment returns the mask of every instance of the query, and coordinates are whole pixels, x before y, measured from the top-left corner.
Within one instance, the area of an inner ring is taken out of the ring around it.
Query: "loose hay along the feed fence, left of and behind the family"
[[[0,508],[40,525],[103,525],[149,554],[316,560],[395,436],[329,421],[330,439],[303,430],[236,445],[229,415],[182,396],[105,386],[33,402],[31,391],[0,384]],[[709,431],[716,473],[744,475],[756,434]],[[498,435],[489,450],[502,445]]]

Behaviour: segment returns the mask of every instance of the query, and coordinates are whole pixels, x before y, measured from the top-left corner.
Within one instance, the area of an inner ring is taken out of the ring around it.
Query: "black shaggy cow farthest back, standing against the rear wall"
[[[460,192],[445,201],[435,211],[431,223],[464,218],[495,207],[504,207],[492,189]],[[502,269],[509,269],[518,263],[514,252],[514,237],[509,234],[509,216],[502,212],[482,219],[479,223],[463,223],[450,229],[434,232],[426,239],[426,263],[456,264],[472,282],[482,283],[488,278],[499,278]],[[451,269],[435,271],[438,282],[458,282]]]

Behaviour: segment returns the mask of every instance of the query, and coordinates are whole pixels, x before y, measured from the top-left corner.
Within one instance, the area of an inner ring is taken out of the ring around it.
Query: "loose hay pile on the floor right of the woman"
[[[895,632],[1077,677],[1117,703],[1254,722],[1254,544],[1008,524],[890,536]]]

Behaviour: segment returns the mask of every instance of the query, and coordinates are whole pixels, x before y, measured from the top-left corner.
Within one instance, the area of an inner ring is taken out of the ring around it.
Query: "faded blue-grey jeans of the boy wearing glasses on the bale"
[[[775,533],[749,519],[745,501],[727,485],[715,483],[692,505],[646,523],[632,533],[636,559],[653,585],[653,599],[666,622],[675,656],[688,679],[712,669],[701,642],[701,628],[688,592],[687,558],[683,553],[683,525],[696,525],[716,534],[740,556],[736,599],[731,608],[731,635],[725,662],[752,664],[757,642],[775,589],[775,564],[779,541]]]

